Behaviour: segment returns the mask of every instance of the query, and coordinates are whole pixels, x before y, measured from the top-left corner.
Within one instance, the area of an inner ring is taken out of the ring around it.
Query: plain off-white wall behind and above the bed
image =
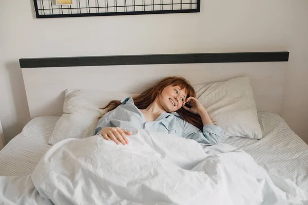
[[[19,58],[249,51],[291,51],[283,116],[308,139],[308,126],[298,122],[308,112],[306,0],[202,0],[201,13],[54,19],[36,19],[32,2],[0,7],[0,119],[7,141],[29,120]]]

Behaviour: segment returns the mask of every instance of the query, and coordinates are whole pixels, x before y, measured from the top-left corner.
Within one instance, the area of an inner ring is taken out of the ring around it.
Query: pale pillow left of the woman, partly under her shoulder
[[[94,135],[94,130],[103,116],[110,100],[122,100],[131,93],[115,93],[100,90],[65,90],[64,114],[56,122],[48,144],[54,145],[67,138],[85,138]]]

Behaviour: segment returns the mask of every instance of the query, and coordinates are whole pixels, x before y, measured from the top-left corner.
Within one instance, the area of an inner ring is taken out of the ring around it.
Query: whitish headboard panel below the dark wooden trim
[[[165,76],[183,76],[192,85],[248,76],[259,111],[280,114],[287,63],[216,63],[23,68],[31,118],[63,113],[67,88],[140,93]]]

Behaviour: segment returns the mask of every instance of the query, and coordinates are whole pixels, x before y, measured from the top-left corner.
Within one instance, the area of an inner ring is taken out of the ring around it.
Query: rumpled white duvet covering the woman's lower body
[[[0,177],[0,204],[308,204],[241,149],[146,130],[128,138],[58,142],[31,176]]]

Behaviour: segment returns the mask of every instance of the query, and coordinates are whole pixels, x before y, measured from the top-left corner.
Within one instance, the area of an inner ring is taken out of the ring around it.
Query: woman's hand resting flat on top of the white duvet
[[[106,139],[106,140],[112,140],[117,145],[120,145],[120,142],[123,145],[128,144],[128,139],[126,135],[131,135],[129,132],[123,131],[121,128],[111,128],[106,127],[101,130],[100,134]]]

